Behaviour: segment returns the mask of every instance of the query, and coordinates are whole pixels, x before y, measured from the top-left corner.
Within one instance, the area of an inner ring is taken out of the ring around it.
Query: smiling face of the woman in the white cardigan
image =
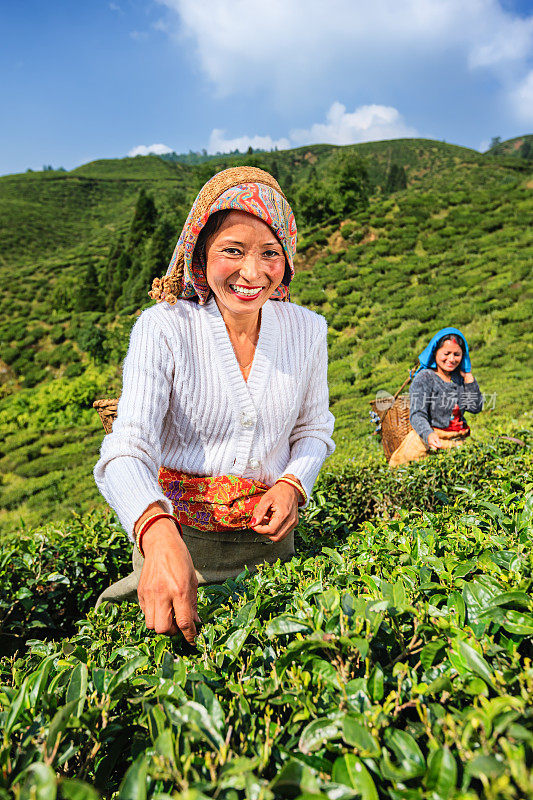
[[[285,274],[285,254],[269,226],[232,211],[207,241],[206,276],[219,308],[232,315],[258,313]]]

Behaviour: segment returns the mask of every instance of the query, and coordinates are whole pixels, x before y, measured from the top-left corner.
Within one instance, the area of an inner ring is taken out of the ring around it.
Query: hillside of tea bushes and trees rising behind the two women
[[[532,163],[428,140],[227,157],[96,161],[0,178],[0,528],[100,503],[92,401],[120,392],[146,288],[202,184],[255,163],[294,204],[293,300],[330,325],[337,454],[380,459],[368,401],[453,324],[488,396],[474,433],[530,424]],[[149,301],[148,301],[149,302]],[[508,428],[506,428],[507,430]],[[511,429],[509,429],[511,430]]]

